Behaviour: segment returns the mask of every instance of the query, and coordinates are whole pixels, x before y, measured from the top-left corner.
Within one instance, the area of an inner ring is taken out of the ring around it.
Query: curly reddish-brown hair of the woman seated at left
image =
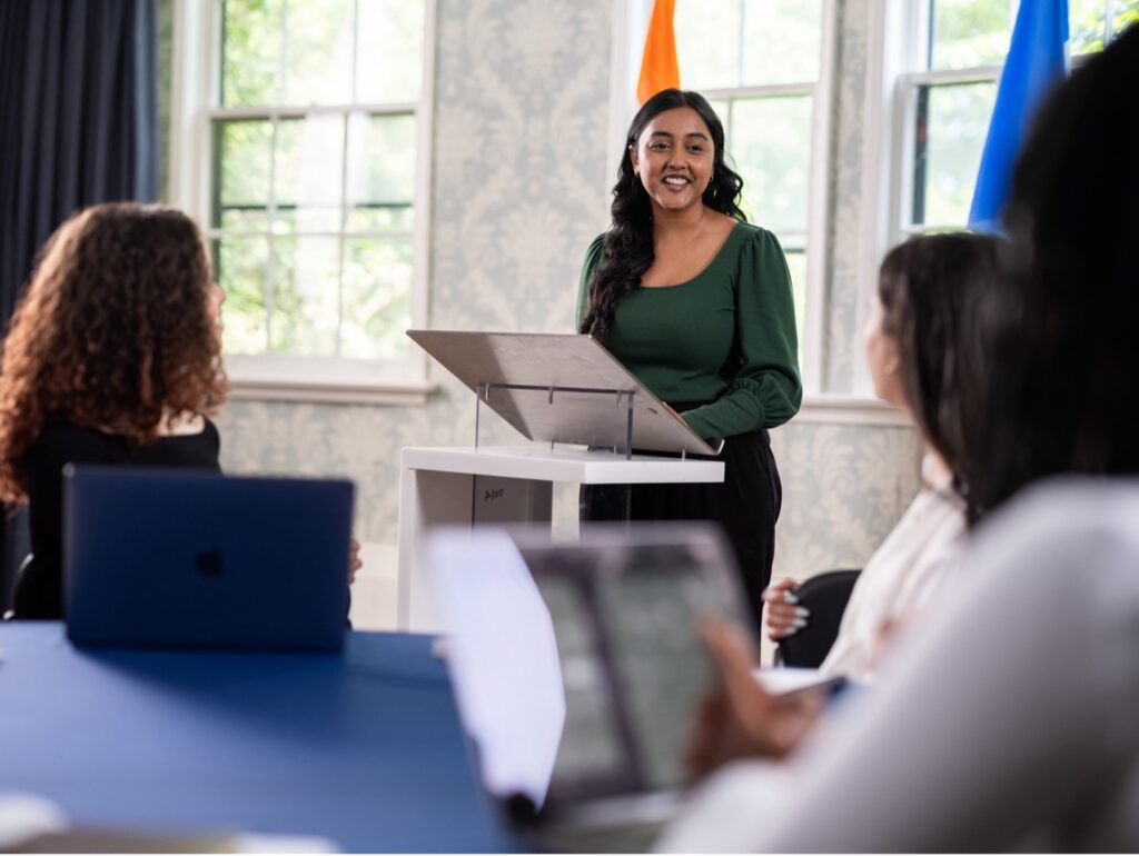
[[[0,497],[27,496],[24,456],[49,422],[136,443],[216,413],[228,384],[202,237],[179,211],[74,214],[48,239],[0,357]]]

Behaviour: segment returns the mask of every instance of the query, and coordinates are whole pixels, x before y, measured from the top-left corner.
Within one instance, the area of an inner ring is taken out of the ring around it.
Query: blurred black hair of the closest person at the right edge
[[[1054,92],[1017,160],[966,461],[974,518],[1050,475],[1139,474],[1137,83],[1131,26]]]

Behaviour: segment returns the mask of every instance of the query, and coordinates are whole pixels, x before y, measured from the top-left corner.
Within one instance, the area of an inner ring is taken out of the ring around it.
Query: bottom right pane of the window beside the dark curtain
[[[343,356],[402,357],[411,324],[411,241],[344,240]]]

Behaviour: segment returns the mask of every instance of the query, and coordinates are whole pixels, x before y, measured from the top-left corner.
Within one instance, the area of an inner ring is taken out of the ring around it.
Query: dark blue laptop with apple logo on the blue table
[[[67,635],[82,645],[337,651],[353,486],[64,468]]]

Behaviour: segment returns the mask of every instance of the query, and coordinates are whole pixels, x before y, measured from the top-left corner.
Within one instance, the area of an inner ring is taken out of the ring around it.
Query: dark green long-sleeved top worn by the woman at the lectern
[[[585,253],[579,328],[604,239]],[[749,223],[737,223],[694,279],[623,297],[604,344],[662,401],[710,402],[683,414],[706,439],[782,425],[803,400],[787,260]]]

